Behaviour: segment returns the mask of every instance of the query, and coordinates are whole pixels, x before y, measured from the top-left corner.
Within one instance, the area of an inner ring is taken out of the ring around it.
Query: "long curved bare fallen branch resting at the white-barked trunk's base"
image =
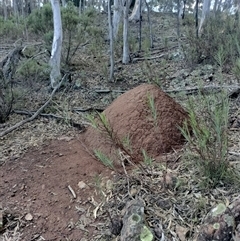
[[[13,130],[17,129],[18,127],[26,124],[27,122],[30,122],[32,120],[34,120],[43,110],[44,108],[51,102],[54,94],[56,93],[56,91],[59,89],[59,87],[61,86],[62,82],[66,79],[67,75],[65,74],[61,80],[61,82],[53,89],[49,99],[45,102],[44,105],[42,105],[38,110],[37,112],[35,112],[35,114],[33,114],[31,117],[25,119],[25,120],[22,120],[20,122],[18,122],[17,124],[15,124],[14,126],[11,126],[9,127],[8,129],[6,129],[5,131],[3,132],[0,132],[0,137],[12,132]]]

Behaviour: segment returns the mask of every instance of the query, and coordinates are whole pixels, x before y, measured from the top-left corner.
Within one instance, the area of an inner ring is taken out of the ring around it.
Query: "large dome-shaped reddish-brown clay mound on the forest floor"
[[[152,108],[150,100],[153,100]],[[177,126],[182,125],[187,113],[155,85],[144,84],[127,91],[104,114],[118,143],[124,143],[123,140],[128,137],[130,144],[126,145],[126,149],[135,162],[143,159],[143,149],[148,156],[156,159],[183,144],[184,139]],[[85,132],[85,142],[89,150],[100,150],[113,161],[119,159],[118,148],[106,131],[89,127]]]

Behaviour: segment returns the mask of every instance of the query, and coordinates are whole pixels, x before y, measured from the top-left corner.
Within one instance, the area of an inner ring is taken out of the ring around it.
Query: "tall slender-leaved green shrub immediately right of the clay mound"
[[[197,99],[188,101],[189,121],[180,130],[191,152],[196,154],[194,161],[205,185],[233,182],[236,177],[227,159],[228,111],[228,97],[224,92],[217,96],[199,94]]]

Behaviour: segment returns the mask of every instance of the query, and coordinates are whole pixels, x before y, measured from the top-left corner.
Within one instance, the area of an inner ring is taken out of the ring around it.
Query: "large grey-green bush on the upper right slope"
[[[199,38],[193,26],[187,29],[187,38],[189,43],[183,50],[188,63],[216,64],[224,70],[226,65],[234,66],[239,56],[240,22],[235,15],[211,15]]]

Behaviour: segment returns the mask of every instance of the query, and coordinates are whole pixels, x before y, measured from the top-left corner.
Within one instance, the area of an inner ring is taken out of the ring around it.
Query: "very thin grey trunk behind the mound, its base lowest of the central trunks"
[[[113,26],[111,16],[111,0],[108,0],[108,25],[109,25],[109,38],[110,38],[110,76],[109,80],[114,79],[114,38],[113,38]]]

